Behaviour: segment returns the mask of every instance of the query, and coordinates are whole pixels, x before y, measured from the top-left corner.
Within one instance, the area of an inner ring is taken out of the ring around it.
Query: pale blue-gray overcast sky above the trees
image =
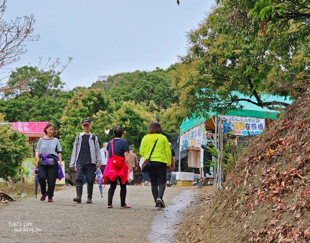
[[[213,0],[8,0],[4,20],[33,14],[37,42],[13,67],[48,58],[65,64],[69,89],[90,86],[100,75],[166,69],[186,53],[185,34],[210,11]]]

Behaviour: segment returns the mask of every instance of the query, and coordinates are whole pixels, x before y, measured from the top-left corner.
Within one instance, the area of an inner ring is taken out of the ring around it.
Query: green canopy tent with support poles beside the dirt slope
[[[245,96],[243,94],[238,94],[240,99],[249,99],[253,102],[256,102],[255,97]],[[272,102],[272,101],[279,101],[285,103],[291,103],[290,97],[280,97],[274,95],[267,95],[267,94],[260,94],[260,98],[263,102]],[[230,115],[230,116],[238,116],[238,117],[253,117],[259,119],[277,119],[277,115],[280,113],[278,110],[271,110],[268,107],[260,107],[248,101],[239,101],[238,105],[242,106],[242,109],[237,110],[227,110],[225,114],[218,114],[217,112],[206,112],[205,116],[198,116],[196,117],[193,114],[193,117],[190,119],[184,119],[181,127],[180,127],[180,135],[186,133],[191,128],[197,126],[198,124],[205,122],[206,128],[209,130],[215,131],[215,147],[217,146],[217,128],[218,128],[218,116],[219,115]],[[180,147],[181,151],[181,147]],[[180,165],[180,163],[179,163]],[[181,170],[179,166],[179,171]]]

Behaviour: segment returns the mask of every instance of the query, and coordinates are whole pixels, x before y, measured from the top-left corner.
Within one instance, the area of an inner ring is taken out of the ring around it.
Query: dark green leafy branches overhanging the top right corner
[[[248,41],[255,40],[259,31],[267,40],[286,37],[289,43],[309,35],[310,5],[308,0],[217,0],[228,10],[228,20],[242,29],[241,34]],[[289,33],[292,26],[298,26]]]

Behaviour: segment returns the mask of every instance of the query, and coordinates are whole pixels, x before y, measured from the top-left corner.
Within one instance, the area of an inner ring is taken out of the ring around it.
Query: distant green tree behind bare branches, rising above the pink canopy
[[[19,88],[9,90],[5,93],[5,97],[16,97],[22,93],[31,98],[42,97],[64,88],[65,83],[61,82],[59,73],[48,70],[42,72],[43,76],[37,77],[38,72],[39,68],[33,66],[23,66],[12,71],[7,83],[8,87],[16,86],[20,80],[29,79],[29,81]]]

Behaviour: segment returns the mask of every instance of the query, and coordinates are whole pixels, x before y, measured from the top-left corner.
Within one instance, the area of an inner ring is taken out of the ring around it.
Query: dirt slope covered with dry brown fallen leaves
[[[202,242],[309,242],[310,96],[253,138],[197,237]]]

